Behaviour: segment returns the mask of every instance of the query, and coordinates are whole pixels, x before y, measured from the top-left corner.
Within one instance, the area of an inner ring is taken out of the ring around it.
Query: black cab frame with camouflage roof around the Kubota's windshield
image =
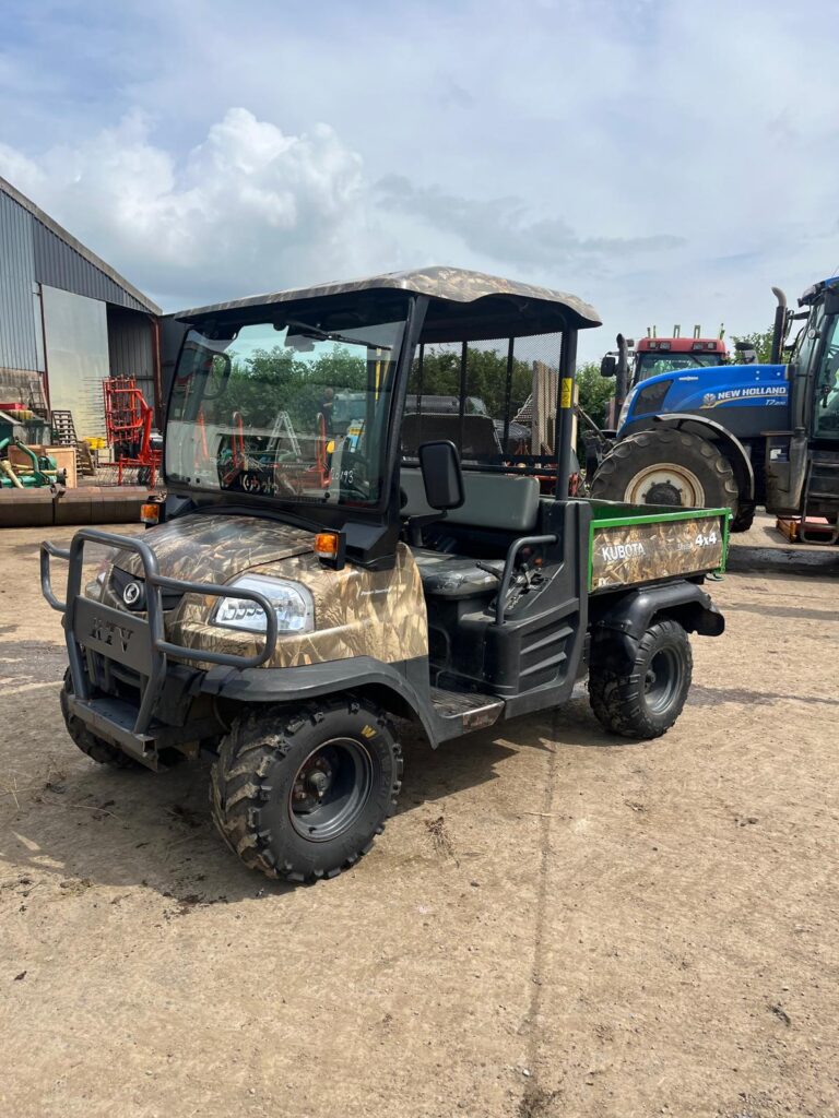
[[[596,312],[574,296],[480,273],[432,268],[280,292],[191,310],[177,318],[186,326],[230,334],[266,312],[308,323],[328,314],[332,322],[350,323],[360,306],[393,303],[397,297],[407,303],[406,326],[396,360],[385,427],[384,473],[375,503],[336,506],[302,504],[282,494],[266,499],[244,489],[207,492],[164,473],[167,515],[204,508],[245,510],[314,530],[339,530],[345,533],[349,558],[366,566],[386,566],[393,561],[400,531],[400,461],[413,461],[416,451],[416,445],[405,445],[406,429],[412,428],[421,440],[431,439],[441,424],[445,437],[459,449],[464,468],[532,474],[540,479],[546,494],[566,496],[573,462],[577,331],[600,325]],[[185,333],[168,416],[185,360],[186,338]],[[430,398],[443,383],[445,394],[458,399],[456,413],[447,415],[445,423],[432,418],[422,404],[424,395]],[[489,394],[492,407],[486,415],[474,414],[474,405],[468,401],[482,394]],[[168,434],[169,419],[164,442]],[[166,461],[166,447],[163,457]]]

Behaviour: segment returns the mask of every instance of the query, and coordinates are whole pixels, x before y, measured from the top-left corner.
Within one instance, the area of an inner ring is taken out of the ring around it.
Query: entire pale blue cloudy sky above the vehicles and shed
[[[614,335],[839,268],[839,6],[0,0],[0,176],[164,310],[433,264]]]

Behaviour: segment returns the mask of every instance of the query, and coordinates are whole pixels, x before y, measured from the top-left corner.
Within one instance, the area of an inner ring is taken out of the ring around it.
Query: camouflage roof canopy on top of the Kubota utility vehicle
[[[427,295],[432,300],[423,341],[519,337],[565,326],[585,330],[601,325],[601,318],[594,307],[575,295],[482,272],[449,267],[389,272],[364,280],[252,295],[181,311],[175,318],[185,322],[205,316],[230,320],[238,318],[237,312],[243,318],[249,318],[248,312],[273,303],[308,303],[376,291],[407,292]]]

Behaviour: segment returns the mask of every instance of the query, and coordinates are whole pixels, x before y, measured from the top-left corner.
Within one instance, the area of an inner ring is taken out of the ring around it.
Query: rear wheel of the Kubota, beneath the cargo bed
[[[597,720],[624,738],[660,738],[673,724],[690,690],[694,657],[688,635],[675,620],[651,625],[634,657],[606,643],[593,651],[588,701]]]

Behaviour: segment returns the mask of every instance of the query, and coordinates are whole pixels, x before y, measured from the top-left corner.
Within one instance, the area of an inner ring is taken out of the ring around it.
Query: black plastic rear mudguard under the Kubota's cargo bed
[[[653,618],[670,617],[688,633],[700,636],[719,636],[725,629],[725,617],[707,594],[696,582],[664,582],[645,586],[622,594],[592,624],[594,642],[618,641],[631,659],[638,652],[638,642],[653,623]]]

